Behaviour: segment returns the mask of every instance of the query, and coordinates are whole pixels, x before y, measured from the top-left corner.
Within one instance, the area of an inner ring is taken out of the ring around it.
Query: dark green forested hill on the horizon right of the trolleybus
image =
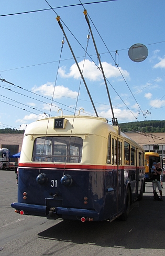
[[[165,132],[165,120],[158,121],[137,121],[137,122],[124,122],[118,124],[123,132],[126,131],[141,131],[141,132]]]

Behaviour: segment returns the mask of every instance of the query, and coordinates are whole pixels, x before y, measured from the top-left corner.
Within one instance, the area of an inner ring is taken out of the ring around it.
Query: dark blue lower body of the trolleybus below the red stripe
[[[118,171],[116,169],[65,170],[65,173],[73,179],[68,187],[61,185],[60,182],[63,170],[43,169],[42,172],[48,177],[48,181],[38,184],[36,181],[38,169],[19,168],[18,204],[13,204],[13,206],[24,210],[25,214],[47,216],[51,219],[49,211],[55,208],[56,217],[63,219],[89,217],[98,221],[113,220],[123,212],[128,184],[134,197],[133,200],[137,197],[134,193],[136,183],[131,183],[136,175],[136,170],[133,169],[125,171],[124,169]],[[139,173],[139,170],[137,172]],[[139,182],[140,189],[142,182],[143,179],[141,183]],[[25,192],[26,199],[24,199]],[[85,197],[87,204],[84,204]],[[31,206],[36,206],[36,209]],[[56,217],[52,216],[52,219]]]

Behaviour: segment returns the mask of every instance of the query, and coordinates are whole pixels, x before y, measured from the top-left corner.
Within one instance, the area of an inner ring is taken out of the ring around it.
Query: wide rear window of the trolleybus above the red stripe
[[[39,137],[34,142],[32,161],[79,163],[82,146],[79,137]]]

